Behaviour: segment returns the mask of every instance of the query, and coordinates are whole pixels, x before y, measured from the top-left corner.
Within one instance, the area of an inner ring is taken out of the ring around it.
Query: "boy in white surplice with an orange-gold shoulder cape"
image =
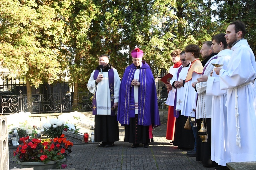
[[[200,48],[196,44],[190,44],[186,46],[185,48],[185,56],[187,60],[191,61],[191,66],[188,70],[188,74],[185,79],[184,83],[184,91],[183,91],[183,97],[182,100],[184,103],[181,108],[181,115],[186,116],[186,117],[195,117],[195,109],[196,109],[196,98],[197,98],[197,93],[192,87],[192,82],[195,82],[198,77],[201,76],[202,71],[203,71],[203,66],[202,63],[199,60],[199,55],[200,55]],[[183,82],[183,79],[180,79]],[[198,135],[197,133],[197,127],[193,127],[192,125],[192,130],[195,138],[195,146],[194,150],[191,152],[187,152],[187,156],[196,156],[196,136]]]

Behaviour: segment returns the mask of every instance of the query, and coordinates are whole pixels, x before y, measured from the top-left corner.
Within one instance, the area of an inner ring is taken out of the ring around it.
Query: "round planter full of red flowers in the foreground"
[[[34,169],[56,169],[66,167],[61,165],[67,161],[67,156],[71,152],[73,143],[64,138],[54,139],[32,139],[29,137],[20,138],[23,144],[14,151],[14,156],[18,159],[21,168],[34,167]]]

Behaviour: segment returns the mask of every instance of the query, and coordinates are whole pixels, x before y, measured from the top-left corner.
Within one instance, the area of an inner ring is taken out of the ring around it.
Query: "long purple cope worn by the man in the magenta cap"
[[[121,125],[129,125],[130,118],[135,118],[134,86],[131,86],[131,82],[136,69],[139,69],[138,81],[140,82],[138,92],[138,125],[159,126],[161,124],[155,80],[149,65],[143,60],[140,68],[131,64],[125,69],[119,90],[117,120]]]

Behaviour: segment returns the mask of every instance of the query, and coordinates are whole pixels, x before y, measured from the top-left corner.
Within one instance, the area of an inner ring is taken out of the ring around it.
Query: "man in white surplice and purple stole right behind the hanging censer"
[[[217,59],[217,53],[213,53],[211,48],[212,41],[203,42],[200,53],[204,60],[202,63],[205,63],[202,75],[210,76],[211,71],[214,66],[211,63],[215,63]],[[197,79],[198,80],[198,79]],[[203,166],[212,167],[215,166],[216,163],[211,161],[211,101],[212,96],[206,95],[206,82],[195,82],[195,90],[198,93],[197,105],[196,105],[196,122],[199,122],[199,129],[201,128],[201,122],[204,121],[204,126],[207,129],[208,133],[208,141],[202,142],[200,137],[197,135],[196,144],[196,161],[202,161]],[[199,86],[200,85],[200,86]],[[199,89],[200,87],[200,89]],[[205,108],[202,109],[202,108]],[[205,112],[204,112],[205,111]],[[203,118],[205,120],[203,120]],[[198,121],[199,120],[199,121]]]

